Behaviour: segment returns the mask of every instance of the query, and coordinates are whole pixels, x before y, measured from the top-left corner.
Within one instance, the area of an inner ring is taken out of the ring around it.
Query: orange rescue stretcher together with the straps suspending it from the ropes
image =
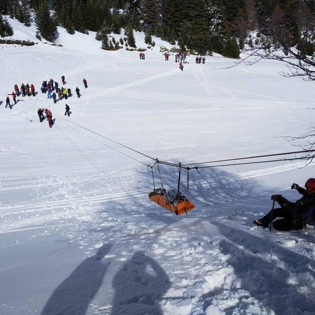
[[[158,174],[159,174],[159,179],[161,183],[160,188],[155,187],[155,180],[154,180],[154,173],[153,173],[153,167],[157,165],[158,167]],[[151,167],[152,171],[152,179],[153,179],[153,191],[149,193],[149,199],[157,203],[159,206],[163,207],[166,210],[169,210],[173,212],[176,216],[182,215],[184,213],[187,214],[189,210],[192,210],[195,206],[184,196],[181,191],[179,190],[180,187],[180,180],[181,180],[181,171],[182,171],[182,166],[181,163],[179,163],[179,168],[178,168],[178,185],[177,185],[177,190],[172,189],[172,190],[166,190],[163,187],[163,182],[162,182],[162,177],[161,177],[161,172],[159,169],[159,161],[157,159],[156,163]],[[190,168],[189,168],[190,169]],[[187,191],[189,189],[189,169],[187,168]]]

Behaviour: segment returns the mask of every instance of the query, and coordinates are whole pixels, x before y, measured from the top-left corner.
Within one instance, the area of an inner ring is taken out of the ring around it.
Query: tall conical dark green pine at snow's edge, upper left
[[[36,12],[36,27],[41,36],[47,41],[55,40],[57,26],[53,18],[50,16],[48,5],[45,1],[39,4]]]

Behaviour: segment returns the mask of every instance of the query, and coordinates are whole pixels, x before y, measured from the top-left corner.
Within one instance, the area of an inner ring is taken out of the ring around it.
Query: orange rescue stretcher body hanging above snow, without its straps
[[[149,193],[149,199],[156,202],[159,206],[173,212],[176,216],[187,214],[195,206],[178,190],[166,192],[164,188],[154,189]]]

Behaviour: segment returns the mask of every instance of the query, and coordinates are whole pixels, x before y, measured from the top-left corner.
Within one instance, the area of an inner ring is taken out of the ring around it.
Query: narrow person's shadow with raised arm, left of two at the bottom
[[[111,244],[106,244],[94,256],[85,259],[55,289],[41,315],[85,315],[109,266],[102,262],[102,258],[111,248]]]

